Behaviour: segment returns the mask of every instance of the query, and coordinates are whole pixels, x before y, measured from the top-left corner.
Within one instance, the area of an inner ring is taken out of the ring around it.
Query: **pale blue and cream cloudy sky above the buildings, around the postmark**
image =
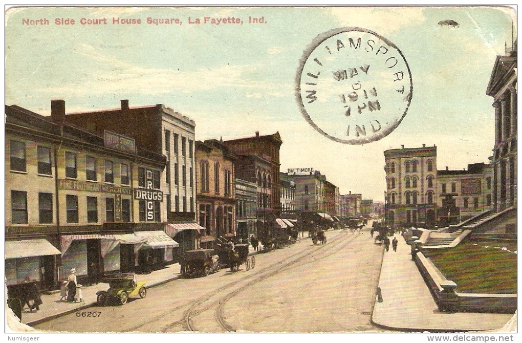
[[[279,132],[281,171],[312,167],[341,194],[383,201],[384,150],[436,145],[439,170],[488,163],[494,109],[485,92],[496,56],[512,42],[515,16],[508,7],[11,8],[5,102],[42,115],[50,115],[52,99],[65,100],[67,113],[118,108],[121,99],[131,107],[162,103],[196,122],[197,140]],[[102,23],[82,25],[82,18]],[[364,145],[321,135],[294,94],[306,47],[343,27],[393,42],[411,71],[406,116]]]

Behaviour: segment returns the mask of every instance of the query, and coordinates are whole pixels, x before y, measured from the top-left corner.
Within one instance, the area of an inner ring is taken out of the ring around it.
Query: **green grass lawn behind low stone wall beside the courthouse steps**
[[[505,251],[502,248],[510,250]],[[516,293],[516,242],[470,241],[426,257],[461,293]]]

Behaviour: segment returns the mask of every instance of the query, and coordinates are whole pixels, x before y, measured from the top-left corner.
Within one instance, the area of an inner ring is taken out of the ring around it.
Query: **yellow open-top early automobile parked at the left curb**
[[[134,273],[119,273],[104,277],[101,282],[109,283],[109,289],[96,293],[98,303],[102,306],[115,302],[124,305],[129,298],[145,298],[147,289],[145,281],[136,281]]]

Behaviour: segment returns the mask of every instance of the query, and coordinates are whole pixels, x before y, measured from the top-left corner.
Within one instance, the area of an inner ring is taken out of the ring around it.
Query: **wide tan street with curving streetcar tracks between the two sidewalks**
[[[35,325],[60,332],[361,332],[383,331],[370,317],[383,246],[369,231],[328,231],[257,254],[254,269],[151,288],[123,306],[90,307]]]

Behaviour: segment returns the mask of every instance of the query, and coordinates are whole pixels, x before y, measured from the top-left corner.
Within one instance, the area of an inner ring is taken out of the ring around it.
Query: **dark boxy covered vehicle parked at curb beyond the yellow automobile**
[[[213,249],[188,250],[183,256],[183,276],[207,276],[221,270],[219,257]]]

